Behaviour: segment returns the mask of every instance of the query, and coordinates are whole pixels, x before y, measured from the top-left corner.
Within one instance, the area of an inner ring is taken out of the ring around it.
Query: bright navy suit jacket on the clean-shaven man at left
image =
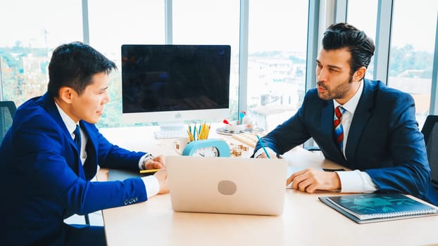
[[[141,179],[90,182],[97,164],[138,170],[145,153],[109,143],[94,124],[80,121],[88,135],[87,161],[79,153],[53,98],[32,98],[15,112],[0,147],[0,245],[63,245],[63,219],[147,200]]]

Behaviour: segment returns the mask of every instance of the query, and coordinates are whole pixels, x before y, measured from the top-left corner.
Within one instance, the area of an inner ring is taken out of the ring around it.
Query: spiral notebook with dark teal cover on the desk
[[[399,193],[320,197],[321,202],[358,224],[437,215],[437,207]]]

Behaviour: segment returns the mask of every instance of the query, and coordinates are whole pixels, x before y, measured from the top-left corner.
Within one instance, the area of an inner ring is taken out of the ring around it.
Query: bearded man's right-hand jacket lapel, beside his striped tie
[[[370,118],[370,109],[373,108],[373,87],[368,79],[363,79],[363,92],[361,99],[359,99],[358,106],[353,115],[349,136],[346,143],[345,155],[350,163],[354,163],[356,159],[356,149],[358,142],[361,140],[361,134],[365,125]]]

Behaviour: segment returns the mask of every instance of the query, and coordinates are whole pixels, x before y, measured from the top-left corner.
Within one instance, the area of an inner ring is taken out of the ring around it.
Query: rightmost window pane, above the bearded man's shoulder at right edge
[[[411,93],[421,129],[430,108],[438,1],[396,0],[393,8],[388,85]]]

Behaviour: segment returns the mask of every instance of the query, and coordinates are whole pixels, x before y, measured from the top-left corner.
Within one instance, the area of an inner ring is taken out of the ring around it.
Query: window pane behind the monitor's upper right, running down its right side
[[[230,119],[239,93],[239,1],[173,0],[173,44],[231,46]]]

